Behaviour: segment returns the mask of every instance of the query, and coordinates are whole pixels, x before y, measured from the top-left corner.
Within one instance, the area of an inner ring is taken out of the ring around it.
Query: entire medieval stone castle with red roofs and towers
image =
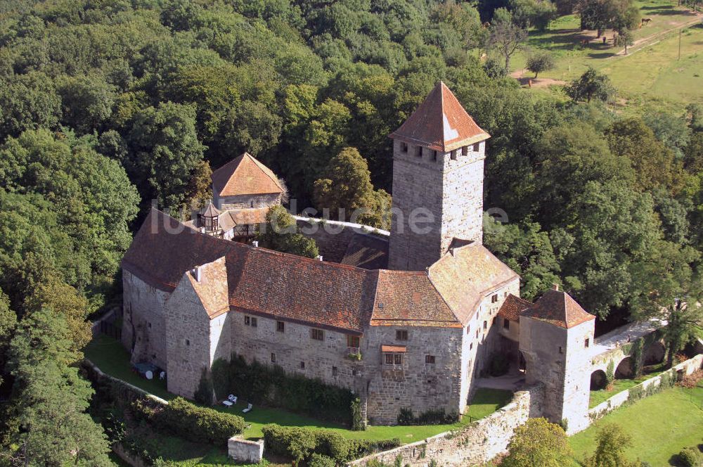
[[[389,137],[387,238],[314,233],[318,259],[259,248],[284,187],[248,154],[212,174],[214,203],[194,222],[152,210],[122,262],[133,362],[193,397],[204,369],[239,354],[354,390],[368,421],[393,424],[404,407],[463,414],[503,353],[543,385],[544,415],[585,428],[595,317],[557,288],[522,300],[520,277],[482,245],[489,135],[440,82]]]

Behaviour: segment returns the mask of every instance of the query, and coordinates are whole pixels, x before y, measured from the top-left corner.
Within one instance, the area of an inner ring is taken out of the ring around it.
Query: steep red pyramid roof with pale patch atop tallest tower
[[[491,136],[474,122],[456,96],[440,81],[413,115],[389,137],[447,152]]]

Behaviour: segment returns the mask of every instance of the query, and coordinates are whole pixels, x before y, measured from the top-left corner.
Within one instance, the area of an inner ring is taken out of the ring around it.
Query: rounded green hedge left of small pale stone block
[[[229,438],[246,428],[244,418],[240,416],[198,407],[182,397],[160,407],[149,407],[146,402],[138,400],[132,408],[139,418],[146,419],[156,428],[195,442],[226,445]]]

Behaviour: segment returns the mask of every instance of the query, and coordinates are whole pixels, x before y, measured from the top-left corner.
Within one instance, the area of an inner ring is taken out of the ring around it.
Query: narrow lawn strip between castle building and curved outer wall
[[[146,380],[131,371],[129,365],[129,353],[119,341],[105,335],[98,335],[86,347],[86,357],[96,364],[99,369],[116,378],[131,383],[153,395],[163,399],[173,399],[175,396],[167,392],[166,384],[160,380]],[[249,439],[257,439],[262,436],[262,426],[267,423],[278,423],[282,426],[302,426],[307,428],[329,428],[341,433],[349,439],[366,440],[387,440],[398,437],[404,444],[424,440],[426,437],[438,435],[453,428],[463,426],[470,421],[475,421],[492,414],[497,409],[503,407],[512,398],[512,392],[494,389],[479,389],[469,407],[468,416],[464,416],[459,423],[449,425],[427,425],[427,426],[371,426],[366,431],[352,431],[343,426],[320,421],[316,418],[292,414],[282,409],[270,409],[267,407],[254,407],[248,414],[243,414],[241,409],[246,407],[243,402],[238,406],[228,409],[222,405],[214,406],[219,411],[230,411],[243,416],[250,427],[243,435]]]

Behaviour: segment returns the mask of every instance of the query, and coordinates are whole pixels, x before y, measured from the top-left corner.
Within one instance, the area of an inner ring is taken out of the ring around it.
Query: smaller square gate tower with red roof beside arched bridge
[[[544,416],[578,433],[588,421],[595,316],[557,286],[520,314],[527,384],[543,383]]]

